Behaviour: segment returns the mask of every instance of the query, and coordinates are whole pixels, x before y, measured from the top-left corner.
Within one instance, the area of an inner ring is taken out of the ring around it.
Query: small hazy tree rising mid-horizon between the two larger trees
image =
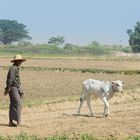
[[[53,45],[62,45],[65,42],[65,39],[63,36],[57,36],[57,37],[51,37],[48,41],[48,44]]]

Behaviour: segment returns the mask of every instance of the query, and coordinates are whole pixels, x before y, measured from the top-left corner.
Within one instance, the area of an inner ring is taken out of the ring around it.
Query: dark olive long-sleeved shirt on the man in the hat
[[[5,89],[9,90],[11,86],[20,88],[20,84],[19,67],[17,65],[13,65],[8,71]]]

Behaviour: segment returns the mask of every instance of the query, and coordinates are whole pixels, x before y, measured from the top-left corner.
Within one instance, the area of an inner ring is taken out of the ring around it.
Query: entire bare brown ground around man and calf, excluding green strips
[[[10,65],[9,58],[1,58],[0,66]],[[23,66],[140,69],[140,61],[29,59]],[[9,104],[9,98],[2,96],[7,71],[0,69],[0,136],[17,135],[21,132],[41,137],[91,134],[96,138],[115,137],[121,140],[128,136],[140,136],[140,74],[20,71],[25,92],[22,127],[10,128],[8,109],[4,109]],[[81,115],[76,115],[81,83],[87,78],[110,81],[120,79],[125,82],[124,93],[117,94],[110,100],[109,117],[102,118],[103,103],[100,99],[92,101],[96,118],[90,117],[86,103]],[[53,99],[60,101],[46,104],[46,100]]]

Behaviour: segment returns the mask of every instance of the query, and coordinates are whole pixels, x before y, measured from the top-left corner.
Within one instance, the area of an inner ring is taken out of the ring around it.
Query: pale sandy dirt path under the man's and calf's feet
[[[92,102],[93,103],[93,102]],[[103,104],[100,100],[94,103],[97,117],[89,117],[86,103],[80,116],[76,115],[79,103],[64,103],[23,108],[22,127],[10,128],[8,110],[0,110],[0,135],[16,135],[21,132],[41,137],[54,135],[92,134],[95,137],[128,137],[140,135],[140,100],[110,102],[110,116],[102,118]]]

